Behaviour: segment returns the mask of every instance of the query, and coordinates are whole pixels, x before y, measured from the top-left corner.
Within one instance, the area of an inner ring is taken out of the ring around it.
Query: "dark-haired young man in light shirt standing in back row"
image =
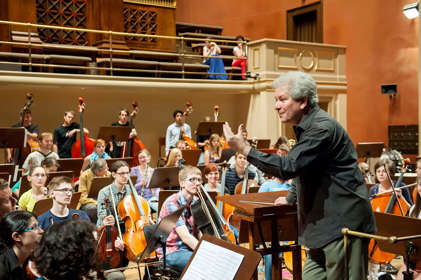
[[[175,110],[173,117],[174,122],[168,126],[165,136],[165,155],[168,155],[170,149],[174,148],[177,141],[184,135],[191,138],[191,128],[184,122],[183,111]]]

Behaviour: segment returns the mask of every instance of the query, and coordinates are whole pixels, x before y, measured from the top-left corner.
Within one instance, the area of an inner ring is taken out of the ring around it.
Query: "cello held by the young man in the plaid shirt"
[[[203,234],[209,234],[217,238],[237,244],[234,231],[230,228],[228,222],[219,213],[215,203],[208,192],[200,186],[198,197],[191,206],[194,223]]]

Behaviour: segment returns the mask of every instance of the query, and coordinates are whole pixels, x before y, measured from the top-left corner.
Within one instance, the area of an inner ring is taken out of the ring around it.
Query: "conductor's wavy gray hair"
[[[319,102],[316,82],[311,75],[304,72],[289,71],[282,74],[273,81],[272,87],[274,89],[287,87],[289,94],[296,101],[307,97],[310,107]]]

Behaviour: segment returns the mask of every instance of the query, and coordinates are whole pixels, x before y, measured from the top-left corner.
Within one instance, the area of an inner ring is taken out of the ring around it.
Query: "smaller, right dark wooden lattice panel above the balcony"
[[[152,10],[145,10],[142,7],[124,7],[124,32],[156,35],[158,30],[158,14]],[[126,41],[155,43],[156,38],[148,37],[126,37]]]

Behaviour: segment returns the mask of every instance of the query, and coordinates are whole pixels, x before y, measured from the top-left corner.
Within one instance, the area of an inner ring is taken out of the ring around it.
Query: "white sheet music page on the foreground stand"
[[[232,280],[244,256],[202,240],[182,280]]]

